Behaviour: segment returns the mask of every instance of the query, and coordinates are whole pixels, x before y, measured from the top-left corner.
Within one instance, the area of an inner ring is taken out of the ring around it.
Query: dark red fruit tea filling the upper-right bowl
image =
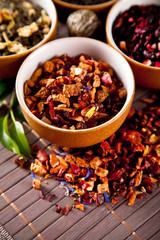
[[[112,33],[117,46],[130,58],[160,67],[160,6],[132,6],[116,18]]]

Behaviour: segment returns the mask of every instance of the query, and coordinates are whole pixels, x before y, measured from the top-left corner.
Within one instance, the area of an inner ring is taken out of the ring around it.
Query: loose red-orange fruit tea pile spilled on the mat
[[[73,207],[82,211],[93,202],[97,206],[116,204],[124,197],[132,206],[136,199],[147,197],[160,182],[159,93],[143,99],[148,104],[144,109],[131,109],[122,127],[97,145],[82,149],[53,146],[50,154],[34,145],[33,187],[40,189],[41,184],[35,174],[58,179],[75,200]],[[69,210],[57,205],[61,214]]]

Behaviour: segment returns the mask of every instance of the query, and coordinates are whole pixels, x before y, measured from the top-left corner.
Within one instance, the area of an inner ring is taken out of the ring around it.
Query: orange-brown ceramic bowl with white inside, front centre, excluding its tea
[[[109,63],[123,82],[127,90],[127,98],[116,116],[111,120],[84,130],[62,129],[48,125],[35,117],[28,109],[24,100],[24,83],[30,79],[37,67],[54,56],[68,54],[75,57],[82,53],[88,54],[95,60]],[[60,146],[86,147],[97,144],[111,136],[124,122],[132,105],[134,97],[134,76],[127,61],[116,50],[99,40],[83,37],[61,38],[49,43],[31,53],[21,65],[16,78],[16,94],[29,125],[43,138]]]

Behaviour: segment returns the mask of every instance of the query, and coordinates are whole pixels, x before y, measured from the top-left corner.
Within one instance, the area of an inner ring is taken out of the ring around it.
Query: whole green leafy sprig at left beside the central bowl
[[[3,84],[2,85],[0,84],[0,86],[3,87],[3,89],[0,91],[0,93],[2,94],[0,96],[0,104],[1,104],[5,99],[5,96],[7,96],[8,93],[11,91],[11,88],[9,88],[8,85],[6,88],[5,85]],[[7,113],[4,117],[0,118],[0,142],[8,150],[13,151],[17,153],[19,156],[26,159],[26,156],[29,156],[29,157],[32,157],[32,156],[30,153],[30,147],[29,147],[28,140],[26,138],[23,126],[19,121],[16,121],[14,117],[13,111],[15,109],[18,109],[18,107],[19,107],[19,104],[15,95],[15,91],[13,90],[13,87],[12,87],[12,97],[10,100],[10,104],[7,105],[7,109],[10,112],[12,122],[8,130],[9,113]],[[19,116],[21,115],[21,119],[24,120],[24,117],[21,111],[19,111],[18,113],[19,113]]]

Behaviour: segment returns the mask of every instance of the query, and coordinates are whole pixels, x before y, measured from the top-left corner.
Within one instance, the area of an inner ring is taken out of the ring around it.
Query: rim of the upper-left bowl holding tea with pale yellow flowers
[[[39,4],[39,1],[38,0],[34,0],[36,1],[37,3],[34,3],[38,6],[40,6]],[[52,35],[52,33],[55,31],[56,29],[56,26],[57,26],[57,23],[58,23],[58,16],[57,16],[57,10],[56,10],[56,7],[53,3],[52,0],[47,0],[48,3],[50,5],[50,7],[52,8],[52,11],[53,12],[53,17],[54,17],[54,22],[53,22],[53,19],[51,19],[51,26],[50,26],[50,30],[49,32],[46,34],[46,36],[39,42],[37,43],[36,45],[34,45],[33,47],[27,49],[26,51],[24,52],[21,52],[21,53],[15,53],[15,54],[11,54],[11,55],[6,55],[6,56],[0,56],[0,60],[3,61],[3,60],[7,60],[7,59],[15,59],[15,58],[19,58],[19,57],[23,57],[23,56],[26,56],[26,54],[28,55],[29,53],[31,53],[32,51],[34,51],[35,49],[39,48],[41,45],[43,45],[45,42],[49,41],[50,39],[50,36]],[[47,11],[46,11],[47,12]],[[47,12],[48,13],[48,12]]]

